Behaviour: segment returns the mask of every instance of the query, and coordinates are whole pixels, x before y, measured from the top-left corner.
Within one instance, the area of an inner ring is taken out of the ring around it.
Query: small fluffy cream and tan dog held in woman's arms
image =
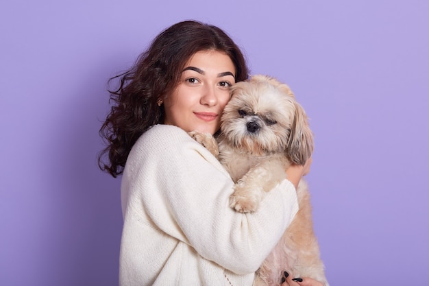
[[[231,94],[217,141],[210,134],[190,134],[219,155],[236,182],[230,206],[247,213],[256,211],[264,193],[286,178],[285,170],[291,163],[306,163],[313,151],[313,137],[304,109],[286,84],[255,75],[234,84]],[[304,180],[299,182],[297,198],[299,211],[260,266],[254,285],[280,285],[286,271],[294,278],[310,277],[328,286]]]

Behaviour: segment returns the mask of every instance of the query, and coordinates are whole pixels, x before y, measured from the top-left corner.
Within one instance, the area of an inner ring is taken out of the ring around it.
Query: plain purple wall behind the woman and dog
[[[1,1],[0,285],[117,285],[106,82],[184,19],[225,29],[306,108],[331,285],[428,283],[429,1],[249,2]]]

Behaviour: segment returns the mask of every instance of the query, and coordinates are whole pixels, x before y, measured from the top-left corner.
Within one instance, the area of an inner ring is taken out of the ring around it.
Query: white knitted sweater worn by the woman
[[[122,177],[120,285],[252,285],[297,212],[295,188],[284,180],[258,211],[242,214],[228,206],[232,186],[184,130],[145,132]]]

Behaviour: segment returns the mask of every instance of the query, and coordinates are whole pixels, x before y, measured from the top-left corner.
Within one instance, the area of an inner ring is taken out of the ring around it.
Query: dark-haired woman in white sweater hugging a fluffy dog
[[[123,173],[121,285],[252,285],[297,211],[295,186],[308,166],[286,170],[255,213],[228,206],[233,182],[187,132],[215,134],[246,80],[240,49],[221,29],[195,21],[158,35],[134,67],[119,75],[101,127],[112,176]],[[294,186],[295,185],[295,186]],[[284,285],[321,285],[310,278]]]

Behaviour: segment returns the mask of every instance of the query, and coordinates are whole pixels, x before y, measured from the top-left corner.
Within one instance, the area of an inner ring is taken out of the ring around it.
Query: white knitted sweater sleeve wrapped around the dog
[[[284,180],[258,211],[229,206],[230,176],[203,146],[175,126],[154,126],[134,145],[123,175],[123,207],[236,274],[255,272],[295,216],[295,187]],[[131,201],[130,201],[131,200]]]

